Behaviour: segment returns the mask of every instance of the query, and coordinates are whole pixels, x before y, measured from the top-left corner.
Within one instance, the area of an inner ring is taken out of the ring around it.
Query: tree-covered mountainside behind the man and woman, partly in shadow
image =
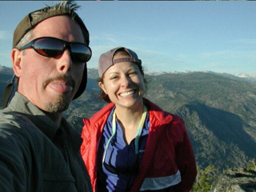
[[[2,90],[11,75],[0,74]],[[88,69],[86,92],[64,115],[79,131],[82,118],[106,105],[97,99],[97,76],[97,69]],[[256,159],[256,84],[237,78],[215,72],[146,73],[146,98],[182,117],[200,168],[214,165],[220,172]]]

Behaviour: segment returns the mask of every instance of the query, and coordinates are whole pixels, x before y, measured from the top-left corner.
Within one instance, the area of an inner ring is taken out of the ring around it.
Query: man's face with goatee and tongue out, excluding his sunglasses
[[[79,25],[66,16],[40,22],[33,30],[33,39],[37,37],[84,42]],[[68,49],[58,57],[44,57],[29,48],[15,58],[19,61],[18,69],[14,69],[19,77],[18,92],[46,112],[60,113],[68,108],[78,91],[85,63],[72,61]]]

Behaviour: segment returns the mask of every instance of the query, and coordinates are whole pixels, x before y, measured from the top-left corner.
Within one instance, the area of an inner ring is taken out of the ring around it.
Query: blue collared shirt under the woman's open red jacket
[[[126,144],[123,137],[122,127],[116,120],[117,132],[111,140],[110,145],[106,151],[106,159],[104,165],[102,157],[106,142],[112,135],[112,117],[114,109],[110,113],[106,124],[103,128],[102,138],[98,147],[98,191],[127,191],[134,183],[134,179],[138,174],[138,167],[142,162],[142,157],[146,147],[146,139],[149,134],[150,120],[149,114],[146,112],[146,120],[142,128],[142,134],[138,141],[139,153],[138,160],[135,155],[135,139]]]

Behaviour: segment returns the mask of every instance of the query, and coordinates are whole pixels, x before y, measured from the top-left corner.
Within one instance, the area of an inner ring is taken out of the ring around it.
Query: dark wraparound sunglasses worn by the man
[[[92,54],[90,47],[83,43],[67,42],[54,37],[36,38],[20,50],[27,48],[32,48],[36,53],[45,57],[57,57],[62,55],[65,49],[69,49],[71,57],[78,62],[89,61]]]

